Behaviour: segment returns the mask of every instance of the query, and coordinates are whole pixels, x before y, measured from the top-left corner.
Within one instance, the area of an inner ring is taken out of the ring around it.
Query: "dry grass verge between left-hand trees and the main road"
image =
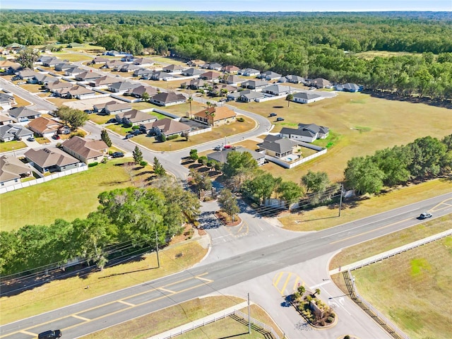
[[[183,254],[178,256],[178,254]],[[201,261],[207,253],[196,238],[159,251],[160,268],[155,253],[143,260],[105,268],[87,276],[53,280],[13,297],[0,298],[0,323],[10,323],[45,311],[82,302],[105,293],[155,280],[179,272]],[[89,288],[86,288],[89,285]],[[152,288],[152,287],[150,287]],[[126,335],[122,338],[131,338]]]

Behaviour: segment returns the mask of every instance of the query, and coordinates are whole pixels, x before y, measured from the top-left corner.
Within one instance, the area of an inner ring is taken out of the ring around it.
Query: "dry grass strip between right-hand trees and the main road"
[[[451,191],[451,180],[435,179],[422,184],[391,189],[388,193],[371,196],[370,198],[364,196],[361,201],[352,203],[345,201],[340,218],[338,218],[338,207],[331,209],[329,206],[322,206],[302,213],[287,214],[278,218],[278,220],[283,223],[287,230],[304,232],[324,230],[328,227],[365,218]]]

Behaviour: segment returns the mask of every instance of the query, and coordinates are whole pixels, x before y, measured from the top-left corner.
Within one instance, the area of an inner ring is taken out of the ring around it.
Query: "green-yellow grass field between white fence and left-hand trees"
[[[49,225],[57,218],[85,218],[97,208],[97,196],[101,192],[133,185],[126,169],[115,166],[128,161],[128,158],[109,160],[85,172],[1,194],[1,230],[15,230],[27,224]],[[151,170],[145,167],[132,173]],[[138,178],[145,179],[145,175],[133,177],[133,180]]]

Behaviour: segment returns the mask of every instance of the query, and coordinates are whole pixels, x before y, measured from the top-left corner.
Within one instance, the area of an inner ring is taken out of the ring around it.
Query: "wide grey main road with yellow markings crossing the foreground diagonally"
[[[452,206],[443,203],[451,198],[452,193],[444,194],[328,230],[294,235],[292,239],[286,239],[283,243],[270,246],[261,244],[261,248],[223,260],[210,263],[206,261],[206,264],[201,263],[194,268],[165,278],[6,324],[0,328],[0,338],[28,339],[32,338],[33,334],[49,328],[63,329],[65,338],[78,338],[121,321],[195,297],[217,293],[237,284],[246,283],[246,287],[251,292],[261,290],[261,293],[264,293],[266,289],[262,289],[260,285],[254,285],[258,283],[259,277],[275,275],[287,267],[307,264],[326,253],[415,225],[420,222],[416,219],[417,215],[425,210],[434,211],[435,218],[451,213]],[[327,274],[326,268],[321,270],[323,274]],[[274,289],[274,287],[268,286],[268,289]],[[78,292],[83,293],[83,291]],[[276,300],[273,307],[281,307],[280,301]],[[361,328],[360,338],[378,338],[374,336],[372,326],[359,326],[358,323],[353,323],[357,321],[354,319],[355,317],[350,317],[352,322],[343,325],[347,328],[354,328],[354,326]],[[291,337],[290,333],[287,335],[289,338],[311,338],[312,334],[302,335],[301,330],[295,333],[300,336]]]

